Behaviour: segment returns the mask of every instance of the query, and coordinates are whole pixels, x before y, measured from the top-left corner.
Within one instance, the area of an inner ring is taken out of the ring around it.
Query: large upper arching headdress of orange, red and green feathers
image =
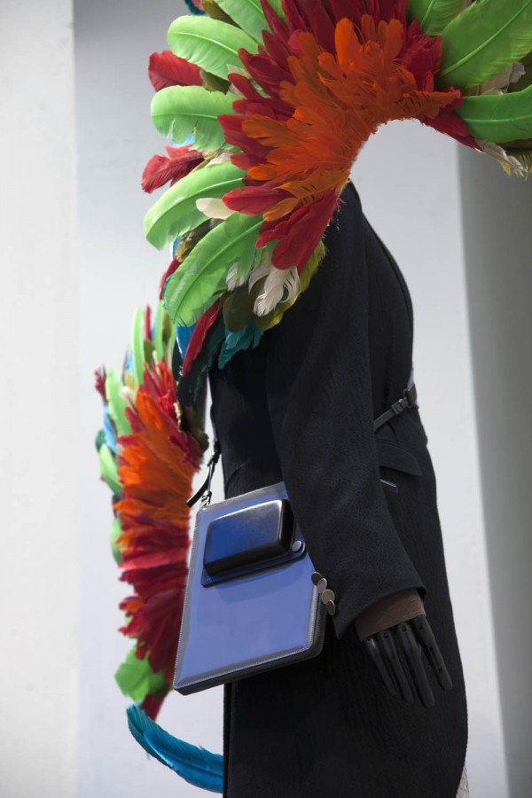
[[[184,374],[204,372],[221,344],[220,364],[256,345],[309,285],[380,125],[418,119],[508,172],[532,171],[532,0],[193,6],[150,66],[153,122],[182,146],[144,178],[148,191],[172,181],[145,232],[176,250],[163,297],[192,335]]]

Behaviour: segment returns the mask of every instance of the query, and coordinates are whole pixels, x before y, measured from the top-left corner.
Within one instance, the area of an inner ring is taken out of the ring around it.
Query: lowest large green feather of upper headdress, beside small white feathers
[[[241,273],[254,262],[262,216],[233,214],[207,233],[172,275],[164,293],[166,309],[178,325],[198,321],[227,288],[227,272],[239,262]]]

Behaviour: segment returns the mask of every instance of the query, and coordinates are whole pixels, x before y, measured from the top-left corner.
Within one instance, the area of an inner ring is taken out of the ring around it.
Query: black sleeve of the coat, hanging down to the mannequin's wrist
[[[338,638],[379,599],[425,594],[380,482],[364,217],[350,191],[327,233],[325,262],[269,333],[266,367],[281,472],[314,567],[336,594]]]

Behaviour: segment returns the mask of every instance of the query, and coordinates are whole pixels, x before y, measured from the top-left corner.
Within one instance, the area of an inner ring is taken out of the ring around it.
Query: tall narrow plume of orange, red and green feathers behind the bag
[[[116,673],[122,692],[155,717],[171,689],[190,547],[186,500],[205,439],[185,431],[171,363],[176,328],[160,303],[137,310],[124,371],[97,373],[104,400],[100,471],[113,492],[113,556],[132,589],[121,602],[135,640]]]

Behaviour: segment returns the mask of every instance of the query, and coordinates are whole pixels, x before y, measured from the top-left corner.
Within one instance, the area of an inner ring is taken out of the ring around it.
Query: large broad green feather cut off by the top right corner
[[[532,0],[479,0],[442,30],[437,86],[469,89],[532,51]]]

